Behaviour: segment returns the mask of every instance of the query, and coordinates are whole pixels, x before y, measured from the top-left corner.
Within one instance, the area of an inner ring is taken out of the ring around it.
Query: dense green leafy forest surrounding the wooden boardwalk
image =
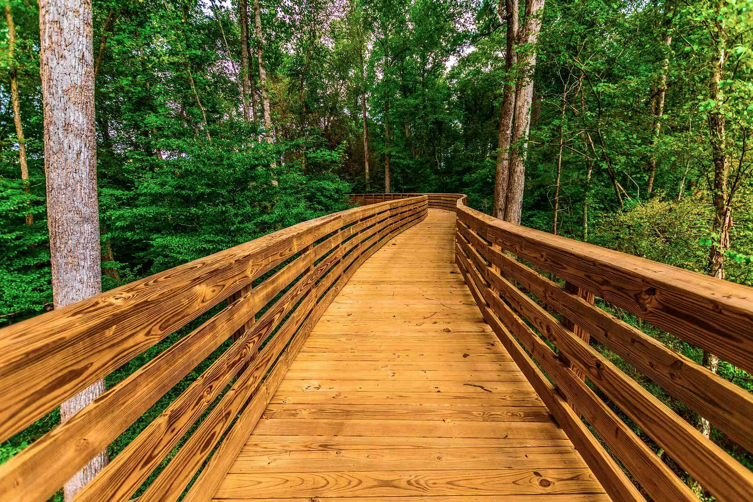
[[[547,0],[533,38],[537,0],[507,4],[95,0],[103,289],[342,210],[353,192],[467,193],[504,217],[495,175],[511,153],[523,225],[753,285],[753,1]],[[52,308],[38,5],[4,11],[0,326]],[[505,87],[521,83],[529,124],[501,148]],[[0,462],[57,420],[4,443]]]

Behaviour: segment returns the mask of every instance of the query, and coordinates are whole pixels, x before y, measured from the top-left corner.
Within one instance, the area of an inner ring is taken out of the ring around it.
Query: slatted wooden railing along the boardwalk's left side
[[[330,214],[0,330],[2,442],[228,300],[2,464],[0,500],[47,500],[225,344],[75,498],[128,500],[174,454],[140,502],[176,500],[216,448],[184,498],[209,500],[322,312],[364,260],[427,208],[428,197],[415,196]]]

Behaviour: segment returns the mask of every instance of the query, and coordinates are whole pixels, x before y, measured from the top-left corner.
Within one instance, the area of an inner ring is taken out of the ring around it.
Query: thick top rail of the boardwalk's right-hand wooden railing
[[[753,373],[753,290],[596,245],[499,221],[459,218],[501,248]]]

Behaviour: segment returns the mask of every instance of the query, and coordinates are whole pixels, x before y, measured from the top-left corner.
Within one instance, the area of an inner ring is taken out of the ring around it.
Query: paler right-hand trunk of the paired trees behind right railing
[[[533,102],[533,74],[536,68],[535,44],[541,30],[541,10],[544,0],[526,0],[526,23],[518,36],[519,44],[525,44],[529,53],[520,61],[525,72],[515,84],[515,107],[513,136],[510,153],[510,175],[508,179],[508,202],[505,207],[505,220],[520,224],[523,213],[523,186],[526,182],[526,145],[520,141],[528,135]]]

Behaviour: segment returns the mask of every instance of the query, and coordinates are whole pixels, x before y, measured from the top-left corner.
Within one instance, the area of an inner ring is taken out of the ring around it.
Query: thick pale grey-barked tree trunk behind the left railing
[[[90,0],[39,2],[40,75],[44,110],[44,170],[53,305],[102,291],[94,132],[94,65]],[[62,403],[66,421],[105,391],[104,380]],[[71,500],[107,464],[93,458],[64,488]]]

